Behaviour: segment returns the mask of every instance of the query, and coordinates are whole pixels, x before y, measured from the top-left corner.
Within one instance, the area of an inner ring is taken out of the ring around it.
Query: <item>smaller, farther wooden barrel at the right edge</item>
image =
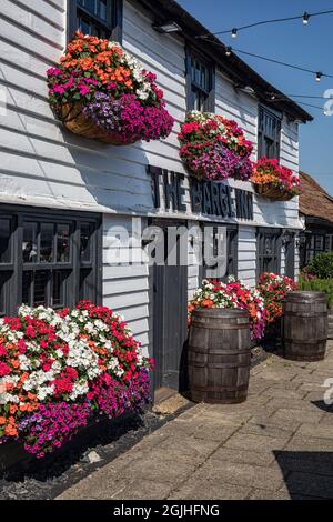
[[[327,341],[327,305],[323,292],[290,292],[283,303],[284,357],[320,361]]]

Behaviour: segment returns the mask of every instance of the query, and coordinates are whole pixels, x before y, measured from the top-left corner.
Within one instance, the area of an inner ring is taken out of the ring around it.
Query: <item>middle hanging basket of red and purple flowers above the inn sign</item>
[[[180,157],[199,179],[249,180],[252,173],[252,143],[234,121],[209,112],[192,111],[179,134]]]

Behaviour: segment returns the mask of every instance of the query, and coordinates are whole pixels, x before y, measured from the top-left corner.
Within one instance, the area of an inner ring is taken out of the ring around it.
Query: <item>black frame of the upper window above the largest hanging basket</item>
[[[89,22],[104,32],[103,38],[122,43],[123,0],[107,0],[107,13],[108,19],[103,20],[80,6],[79,0],[68,0],[68,41],[73,38],[74,32],[79,29],[79,16],[83,16]]]

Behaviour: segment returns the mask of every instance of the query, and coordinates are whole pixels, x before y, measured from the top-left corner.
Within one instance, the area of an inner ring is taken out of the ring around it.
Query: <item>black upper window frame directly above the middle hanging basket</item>
[[[200,110],[202,112],[215,111],[215,63],[202,54],[198,49],[185,48],[185,70],[186,70],[186,109],[188,111]],[[199,62],[206,69],[206,87],[200,86],[192,76],[193,61]],[[195,108],[193,90],[198,91],[204,98],[201,109]]]

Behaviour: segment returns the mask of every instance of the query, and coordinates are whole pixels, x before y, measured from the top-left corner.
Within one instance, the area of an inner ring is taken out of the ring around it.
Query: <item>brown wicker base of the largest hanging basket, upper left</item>
[[[118,132],[108,132],[94,123],[91,118],[87,118],[82,111],[82,106],[65,103],[62,106],[62,122],[64,127],[78,135],[83,135],[90,140],[101,141],[112,145],[130,145],[139,141],[137,138],[128,141],[119,139]]]

